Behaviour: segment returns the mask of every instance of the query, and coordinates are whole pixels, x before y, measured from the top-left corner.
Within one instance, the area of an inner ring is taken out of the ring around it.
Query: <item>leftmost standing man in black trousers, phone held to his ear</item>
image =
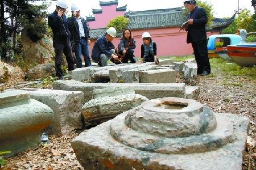
[[[56,1],[56,10],[48,16],[48,25],[53,32],[53,47],[55,49],[55,71],[56,76],[62,80],[61,59],[63,53],[68,62],[68,71],[74,70],[74,59],[70,44],[70,33],[68,31],[68,22],[65,11],[68,8],[67,2],[63,0]]]

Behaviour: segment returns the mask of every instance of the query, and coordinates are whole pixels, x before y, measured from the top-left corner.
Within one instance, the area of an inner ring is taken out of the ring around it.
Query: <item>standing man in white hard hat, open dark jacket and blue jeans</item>
[[[89,45],[90,34],[86,20],[80,16],[80,8],[71,5],[72,16],[68,18],[68,28],[71,33],[71,41],[75,43],[76,67],[82,67],[82,56],[84,56],[85,67],[91,66]]]

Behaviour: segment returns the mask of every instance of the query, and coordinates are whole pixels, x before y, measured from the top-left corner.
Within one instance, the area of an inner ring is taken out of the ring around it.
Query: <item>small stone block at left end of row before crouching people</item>
[[[82,67],[77,68],[73,71],[68,71],[68,79],[77,80],[79,82],[84,82],[85,80],[90,80],[90,69],[97,68],[98,66]]]

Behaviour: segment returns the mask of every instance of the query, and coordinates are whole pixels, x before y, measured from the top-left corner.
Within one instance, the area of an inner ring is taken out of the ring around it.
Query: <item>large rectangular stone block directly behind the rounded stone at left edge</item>
[[[35,88],[23,88],[23,90],[30,94],[31,99],[38,100],[52,109],[54,119],[46,128],[49,134],[67,135],[72,130],[82,128],[83,92]]]

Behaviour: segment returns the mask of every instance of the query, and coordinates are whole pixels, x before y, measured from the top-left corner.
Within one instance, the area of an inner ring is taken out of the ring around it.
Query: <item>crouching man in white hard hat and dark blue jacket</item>
[[[92,59],[100,66],[108,66],[108,60],[110,57],[118,59],[115,55],[115,46],[112,43],[117,31],[115,28],[110,27],[106,34],[99,37],[93,45]]]

